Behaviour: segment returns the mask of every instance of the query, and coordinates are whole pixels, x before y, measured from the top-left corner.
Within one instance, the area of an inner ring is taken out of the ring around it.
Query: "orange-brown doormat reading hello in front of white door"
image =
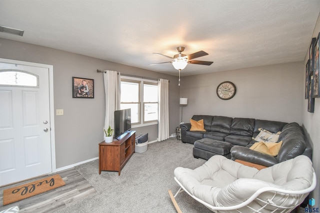
[[[3,190],[3,206],[64,186],[59,175]]]

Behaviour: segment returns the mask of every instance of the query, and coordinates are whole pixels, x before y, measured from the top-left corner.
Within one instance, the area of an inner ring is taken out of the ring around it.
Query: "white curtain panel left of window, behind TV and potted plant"
[[[114,129],[114,110],[120,109],[121,78],[120,72],[104,70],[105,119],[104,128]]]

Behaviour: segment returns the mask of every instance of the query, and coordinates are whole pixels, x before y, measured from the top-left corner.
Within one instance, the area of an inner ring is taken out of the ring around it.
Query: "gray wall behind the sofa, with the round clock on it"
[[[182,120],[194,114],[256,118],[302,123],[303,62],[193,75],[181,79],[180,96],[188,98]],[[216,87],[223,81],[236,86],[230,100],[221,100]]]

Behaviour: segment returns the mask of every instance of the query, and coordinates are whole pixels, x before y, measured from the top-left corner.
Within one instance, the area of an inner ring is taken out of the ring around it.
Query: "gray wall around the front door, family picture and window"
[[[169,133],[179,124],[179,88],[175,76],[126,66],[48,47],[0,38],[0,58],[53,65],[56,168],[72,165],[98,156],[98,143],[103,140],[105,97],[100,70],[169,80]],[[94,99],[72,98],[72,76],[94,79]],[[133,129],[134,130],[134,129]],[[157,125],[137,128],[149,133],[149,141],[157,138]]]

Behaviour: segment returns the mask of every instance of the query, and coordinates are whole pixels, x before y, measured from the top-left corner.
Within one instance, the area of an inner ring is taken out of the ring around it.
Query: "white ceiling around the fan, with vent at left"
[[[177,75],[173,56],[203,50],[181,75],[302,61],[320,0],[0,0],[1,38]],[[107,68],[107,67],[106,67]]]

